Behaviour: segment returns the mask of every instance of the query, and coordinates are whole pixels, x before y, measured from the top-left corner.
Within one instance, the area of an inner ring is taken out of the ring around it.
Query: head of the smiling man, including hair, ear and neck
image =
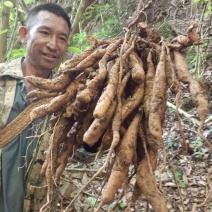
[[[60,64],[68,48],[70,28],[67,13],[56,4],[39,5],[29,12],[26,26],[19,29],[27,51],[23,64],[31,71],[27,74],[46,77]]]

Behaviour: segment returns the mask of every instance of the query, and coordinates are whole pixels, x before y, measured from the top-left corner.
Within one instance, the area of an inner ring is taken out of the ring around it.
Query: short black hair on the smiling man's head
[[[40,11],[48,11],[59,17],[62,17],[68,24],[69,32],[71,31],[71,22],[70,22],[70,18],[68,14],[61,6],[54,3],[41,4],[31,9],[27,16],[26,26],[29,25],[29,22],[31,21],[31,19],[34,18]]]

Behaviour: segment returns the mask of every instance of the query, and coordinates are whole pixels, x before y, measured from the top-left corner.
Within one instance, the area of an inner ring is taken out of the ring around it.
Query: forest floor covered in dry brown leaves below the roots
[[[210,115],[212,108],[212,70],[205,72],[206,84],[209,85]],[[196,111],[191,99],[187,96],[187,86],[181,97],[181,109],[195,117]],[[172,102],[172,94],[168,101]],[[166,154],[161,151],[158,157],[158,167],[155,171],[155,180],[159,190],[162,192],[170,212],[211,212],[212,211],[212,153],[206,143],[197,134],[197,125],[190,118],[181,115],[181,122],[188,152],[182,148],[182,139],[179,133],[178,121],[175,110],[167,107],[164,123],[163,140]],[[212,141],[212,122],[204,127],[204,136],[209,142]],[[164,156],[167,158],[164,160]],[[71,160],[63,173],[62,189],[63,208],[66,208],[80,188],[87,184],[94,173],[102,166],[106,155],[91,164],[83,164]],[[132,168],[133,170],[133,168]],[[100,203],[100,194],[107,176],[104,170],[92,183],[90,183],[79,195],[68,211],[93,212],[94,207]],[[126,211],[128,202],[133,192],[135,176],[130,181],[130,189],[126,195],[120,190],[110,205],[104,205],[100,211]],[[201,207],[194,208],[195,205]],[[61,211],[61,210],[60,210]],[[134,208],[128,211],[152,212],[145,196],[141,196]]]

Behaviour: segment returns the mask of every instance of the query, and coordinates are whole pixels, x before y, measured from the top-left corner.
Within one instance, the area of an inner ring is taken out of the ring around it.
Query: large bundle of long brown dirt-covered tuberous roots
[[[90,147],[100,142],[98,153],[109,150],[102,169],[115,155],[101,205],[110,203],[119,188],[127,190],[129,167],[133,166],[136,183],[132,203],[144,194],[155,211],[168,211],[153,175],[158,150],[163,148],[168,89],[178,104],[181,83],[190,85],[201,137],[208,115],[207,95],[189,73],[180,52],[201,43],[196,27],[193,23],[187,36],[180,35],[171,43],[161,39],[157,30],[147,29],[145,23],[138,24],[133,33],[131,28],[125,29],[122,38],[98,41],[89,37],[90,48],[70,59],[52,80],[26,77],[37,87],[27,98],[40,101],[30,111],[31,121],[51,117],[50,146],[41,171],[49,197],[44,208],[68,158],[83,142]],[[183,144],[186,148],[186,142]]]

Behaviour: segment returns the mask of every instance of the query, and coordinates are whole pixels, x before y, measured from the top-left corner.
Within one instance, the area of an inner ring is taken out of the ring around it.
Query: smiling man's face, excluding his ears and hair
[[[39,71],[51,71],[64,58],[68,35],[69,28],[62,17],[40,11],[27,29],[26,60]]]

